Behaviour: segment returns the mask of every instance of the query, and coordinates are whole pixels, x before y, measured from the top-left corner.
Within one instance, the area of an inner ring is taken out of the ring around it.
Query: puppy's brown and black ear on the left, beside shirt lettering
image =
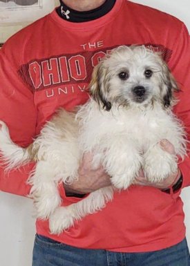
[[[106,111],[111,110],[111,102],[108,102],[108,70],[103,66],[100,61],[93,70],[91,82],[89,84],[89,91],[93,99],[103,106]]]

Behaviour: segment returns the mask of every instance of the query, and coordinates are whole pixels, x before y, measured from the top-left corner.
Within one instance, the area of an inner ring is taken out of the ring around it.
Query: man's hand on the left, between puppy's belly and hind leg
[[[64,184],[66,192],[86,194],[111,185],[110,177],[102,166],[98,169],[93,169],[92,160],[92,153],[84,154],[79,167],[79,179],[72,184]]]

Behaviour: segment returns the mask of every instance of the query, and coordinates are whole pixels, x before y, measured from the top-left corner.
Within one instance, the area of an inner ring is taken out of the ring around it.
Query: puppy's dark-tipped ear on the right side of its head
[[[162,104],[164,108],[168,108],[175,102],[174,92],[180,89],[167,64],[163,63],[162,69]]]

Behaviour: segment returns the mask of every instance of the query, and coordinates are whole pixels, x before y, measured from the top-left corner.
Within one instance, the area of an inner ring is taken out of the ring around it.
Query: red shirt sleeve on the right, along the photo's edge
[[[190,140],[190,37],[189,32],[182,24],[181,32],[173,42],[173,54],[171,57],[171,72],[180,87],[176,93],[179,102],[174,108],[175,114],[182,120],[187,132],[187,140]],[[187,144],[187,156],[179,162],[179,168],[183,176],[182,187],[190,185],[190,142]]]

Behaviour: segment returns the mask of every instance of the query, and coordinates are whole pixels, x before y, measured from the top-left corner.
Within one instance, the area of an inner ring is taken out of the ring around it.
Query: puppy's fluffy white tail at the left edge
[[[26,149],[12,142],[8,126],[0,120],[0,165],[9,171],[33,160],[32,144]]]

